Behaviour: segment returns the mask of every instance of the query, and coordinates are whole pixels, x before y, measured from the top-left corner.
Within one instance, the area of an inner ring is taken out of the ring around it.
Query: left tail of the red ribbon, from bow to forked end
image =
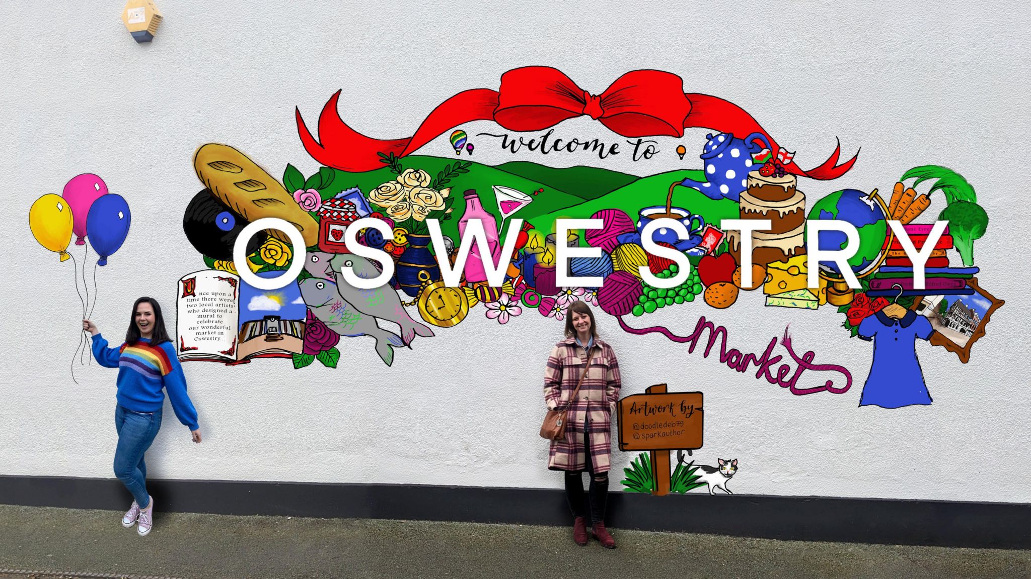
[[[447,99],[423,121],[415,134],[406,139],[373,139],[355,131],[340,118],[337,91],[319,115],[319,139],[308,131],[300,109],[295,110],[297,133],[304,150],[327,167],[341,171],[371,171],[383,167],[379,155],[410,155],[448,129],[470,121],[494,118],[498,94],[490,89],[463,91]],[[320,142],[321,141],[321,142]]]

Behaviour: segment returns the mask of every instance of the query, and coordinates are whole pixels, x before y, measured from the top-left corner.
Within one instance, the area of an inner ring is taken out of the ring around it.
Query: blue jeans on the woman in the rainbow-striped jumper
[[[114,407],[114,429],[119,433],[119,446],[114,450],[114,476],[126,485],[139,508],[151,504],[146,493],[146,464],[143,453],[151,447],[161,429],[161,410],[143,414],[122,405]]]

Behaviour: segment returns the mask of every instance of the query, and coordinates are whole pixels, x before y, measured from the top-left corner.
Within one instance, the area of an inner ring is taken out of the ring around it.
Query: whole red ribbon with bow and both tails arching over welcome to
[[[580,89],[562,71],[528,66],[501,75],[498,91],[471,89],[445,100],[406,139],[373,139],[348,127],[337,112],[337,91],[319,116],[319,137],[308,131],[296,109],[297,132],[304,149],[315,161],[343,171],[381,167],[379,155],[410,155],[429,141],[464,123],[494,121],[510,131],[539,131],[568,118],[588,115],[625,137],[683,137],[684,129],[700,127],[737,136],[760,133],[772,147],[772,138],[744,109],[724,99],[684,93],[679,76],[661,70],[634,70],[620,76],[600,95]],[[804,171],[794,162],[788,172],[814,179],[834,179],[855,164],[857,157],[837,165],[840,143],[819,167]],[[857,154],[858,156],[858,154]]]

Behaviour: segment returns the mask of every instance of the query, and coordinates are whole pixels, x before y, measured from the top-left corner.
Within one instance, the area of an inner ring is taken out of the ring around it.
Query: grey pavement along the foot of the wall
[[[621,532],[619,548],[545,526],[0,506],[0,569],[188,578],[1022,578],[1031,551]]]

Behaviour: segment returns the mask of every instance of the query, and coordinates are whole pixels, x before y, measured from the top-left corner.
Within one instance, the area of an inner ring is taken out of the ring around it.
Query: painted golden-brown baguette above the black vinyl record
[[[242,152],[219,143],[201,145],[194,155],[194,170],[212,195],[247,222],[279,217],[301,232],[305,245],[319,244],[319,222],[301,209],[279,181]],[[272,237],[290,243],[286,233],[267,231]]]

